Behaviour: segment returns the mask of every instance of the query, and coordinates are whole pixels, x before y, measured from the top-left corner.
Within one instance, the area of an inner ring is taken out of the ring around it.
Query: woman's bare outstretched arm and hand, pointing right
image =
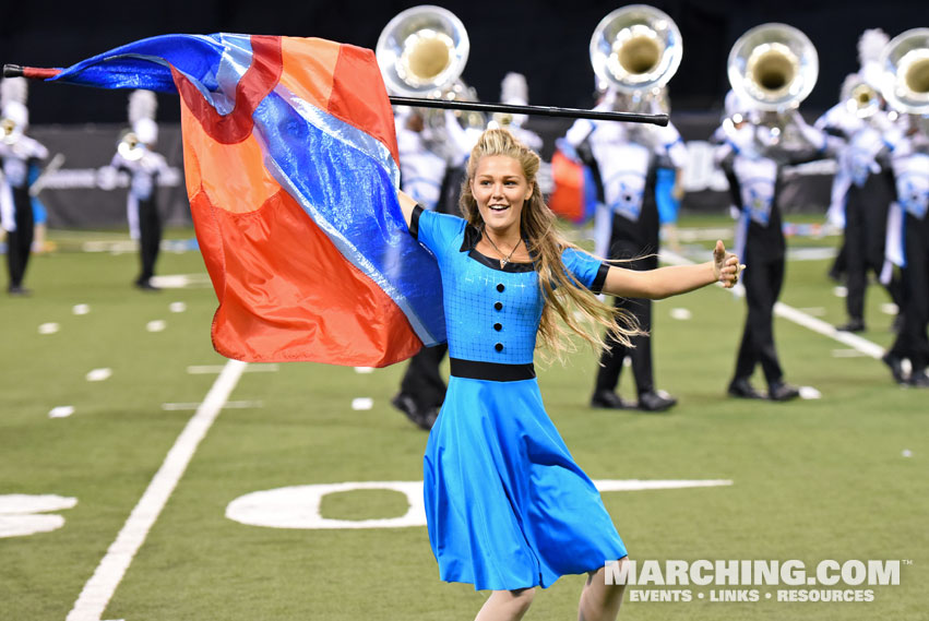
[[[723,242],[717,241],[713,260],[698,265],[674,265],[647,272],[610,266],[603,292],[622,298],[660,300],[716,282],[728,289],[739,282],[739,272],[743,268],[738,256],[726,252]]]

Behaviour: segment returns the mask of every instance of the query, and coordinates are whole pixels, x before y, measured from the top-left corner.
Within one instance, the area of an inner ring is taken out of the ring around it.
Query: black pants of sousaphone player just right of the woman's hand
[[[784,285],[784,255],[764,258],[753,252],[751,240],[746,244],[745,262],[749,266],[742,274],[746,287],[748,314],[742,332],[742,343],[736,359],[736,380],[748,380],[758,363],[769,385],[782,380],[784,372],[774,347],[774,303]]]

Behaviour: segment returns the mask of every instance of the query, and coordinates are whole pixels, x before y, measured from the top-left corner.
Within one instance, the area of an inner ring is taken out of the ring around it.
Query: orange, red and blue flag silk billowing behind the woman
[[[444,341],[438,267],[397,202],[393,112],[371,50],[165,35],[49,80],[180,95],[219,354],[383,367]]]

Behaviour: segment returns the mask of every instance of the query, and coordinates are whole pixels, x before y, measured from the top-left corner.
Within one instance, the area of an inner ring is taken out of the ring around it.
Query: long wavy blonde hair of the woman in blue
[[[461,208],[468,224],[484,228],[484,222],[477,210],[477,201],[472,192],[472,182],[481,157],[505,155],[520,163],[523,174],[533,189],[532,196],[523,205],[520,220],[522,235],[538,273],[539,287],[546,301],[539,322],[538,345],[558,359],[571,350],[567,325],[595,349],[605,348],[606,337],[611,336],[618,343],[630,346],[630,338],[643,334],[631,313],[602,302],[597,297],[568,274],[561,261],[565,248],[577,248],[558,232],[556,215],[545,204],[541,191],[536,182],[539,156],[521,143],[509,130],[491,129],[485,131],[471,152],[467,164],[467,178],[462,183]],[[580,315],[574,310],[580,311]],[[558,320],[561,320],[559,322]],[[605,333],[604,333],[605,331]]]

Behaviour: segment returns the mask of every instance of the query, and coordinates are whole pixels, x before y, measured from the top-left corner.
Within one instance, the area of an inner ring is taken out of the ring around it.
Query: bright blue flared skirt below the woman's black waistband
[[[626,557],[535,379],[452,377],[424,458],[429,541],[446,582],[548,587]]]

